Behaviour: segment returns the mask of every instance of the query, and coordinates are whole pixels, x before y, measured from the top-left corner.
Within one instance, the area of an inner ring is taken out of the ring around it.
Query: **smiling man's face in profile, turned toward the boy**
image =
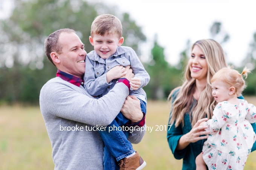
[[[82,78],[85,72],[84,44],[75,33],[61,33],[59,43],[62,53],[58,54],[60,63],[58,69],[68,74]]]

